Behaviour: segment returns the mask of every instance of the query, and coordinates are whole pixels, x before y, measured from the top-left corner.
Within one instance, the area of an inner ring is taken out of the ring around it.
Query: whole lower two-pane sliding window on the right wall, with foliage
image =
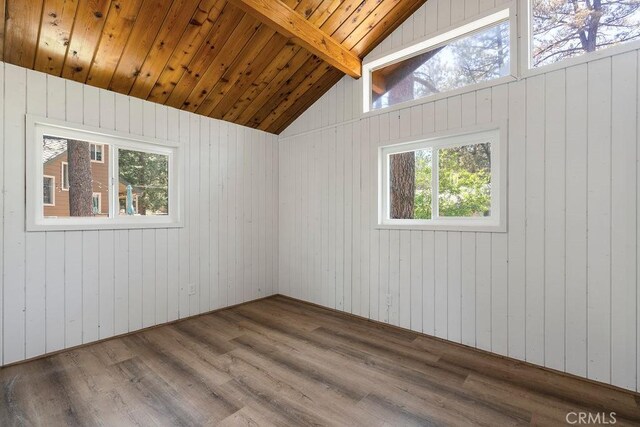
[[[381,148],[380,225],[502,227],[501,156],[499,130]]]

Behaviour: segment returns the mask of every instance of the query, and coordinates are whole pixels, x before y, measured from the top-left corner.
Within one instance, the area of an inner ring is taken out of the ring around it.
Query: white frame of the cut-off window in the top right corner
[[[520,0],[520,10],[524,13],[520,14],[519,24],[522,30],[521,37],[521,55],[522,63],[520,75],[522,78],[532,77],[539,74],[549,73],[551,71],[561,70],[572,67],[574,65],[584,64],[601,58],[619,55],[621,53],[640,49],[640,40],[634,40],[623,43],[618,46],[611,46],[606,49],[596,50],[595,52],[585,52],[582,55],[572,58],[563,59],[552,64],[533,66],[533,0]]]

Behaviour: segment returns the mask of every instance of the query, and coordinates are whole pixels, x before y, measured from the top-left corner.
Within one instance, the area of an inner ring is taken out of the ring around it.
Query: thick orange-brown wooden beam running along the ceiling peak
[[[280,0],[233,0],[232,3],[343,73],[354,78],[362,75],[362,61],[358,56]]]

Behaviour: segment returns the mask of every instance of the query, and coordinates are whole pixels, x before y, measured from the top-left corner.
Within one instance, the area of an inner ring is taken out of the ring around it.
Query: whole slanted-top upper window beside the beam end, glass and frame
[[[515,75],[512,30],[504,9],[365,64],[364,111]]]

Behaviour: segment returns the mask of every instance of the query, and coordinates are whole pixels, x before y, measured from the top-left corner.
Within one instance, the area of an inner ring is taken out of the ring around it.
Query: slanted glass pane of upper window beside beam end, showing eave
[[[372,108],[388,107],[509,73],[509,23],[502,22],[375,70],[371,75]]]

